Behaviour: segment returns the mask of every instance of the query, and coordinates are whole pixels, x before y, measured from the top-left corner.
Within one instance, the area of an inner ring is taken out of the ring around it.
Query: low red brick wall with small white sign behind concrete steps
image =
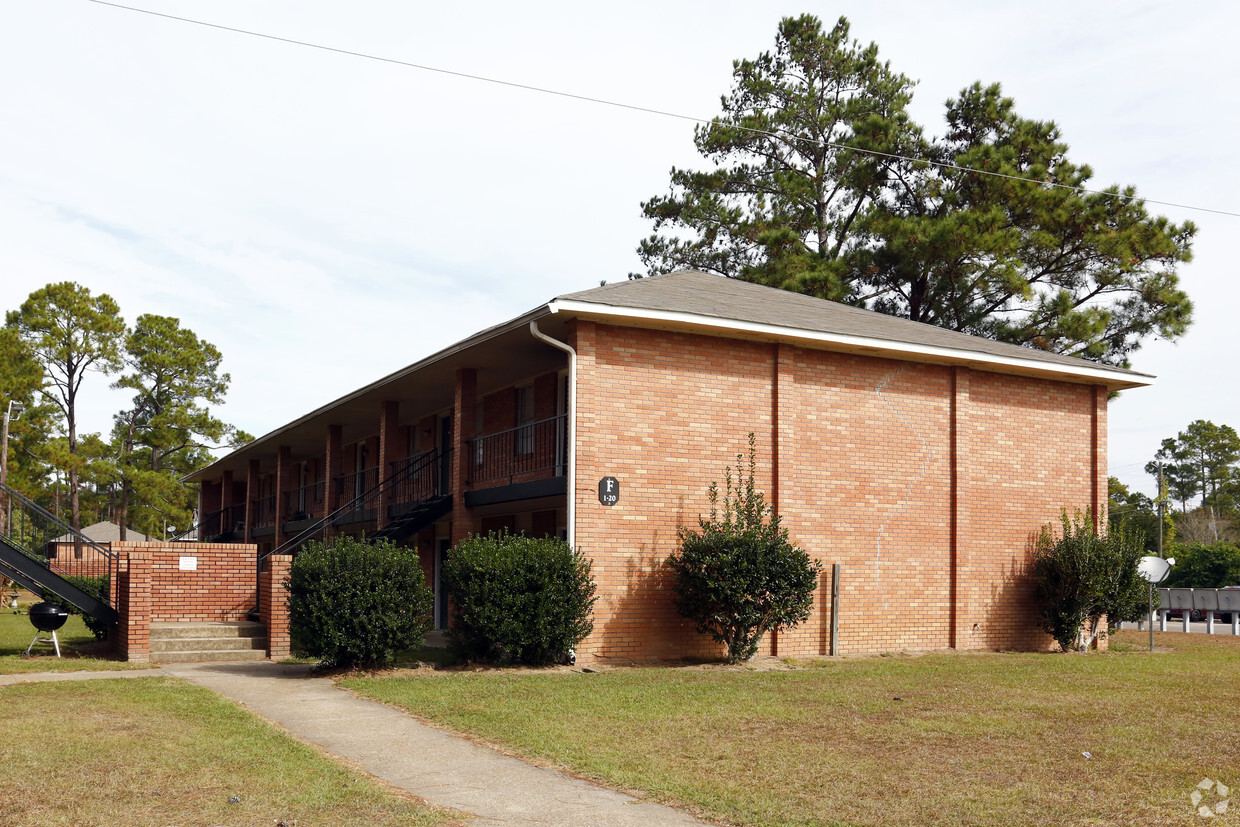
[[[244,620],[257,594],[257,547],[231,543],[113,543],[118,554],[150,559],[150,620]],[[180,570],[180,558],[197,570]]]

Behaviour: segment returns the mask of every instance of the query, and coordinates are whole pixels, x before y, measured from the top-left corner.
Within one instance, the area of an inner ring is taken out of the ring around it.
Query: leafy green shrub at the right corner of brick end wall
[[[1100,536],[1080,511],[1071,518],[1063,512],[1060,522],[1058,538],[1050,526],[1042,528],[1032,572],[1039,626],[1068,652],[1092,643],[1104,615],[1112,631],[1136,620],[1147,606],[1149,584],[1137,573],[1145,555],[1140,534],[1121,526]]]

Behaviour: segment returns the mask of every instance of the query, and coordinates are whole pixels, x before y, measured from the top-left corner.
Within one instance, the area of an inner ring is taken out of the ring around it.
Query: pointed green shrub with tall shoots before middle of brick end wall
[[[810,616],[822,563],[787,538],[779,515],[754,484],[755,440],[749,434],[748,474],[737,455],[737,481],[724,472],[708,493],[711,517],[681,527],[680,551],[667,558],[675,574],[676,609],[698,632],[728,647],[728,662],[749,660],[768,631],[790,629]]]

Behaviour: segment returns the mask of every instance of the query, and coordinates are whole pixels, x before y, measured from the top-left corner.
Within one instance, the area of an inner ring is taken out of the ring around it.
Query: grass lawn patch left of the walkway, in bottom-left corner
[[[176,678],[4,687],[0,732],[2,825],[449,821]]]

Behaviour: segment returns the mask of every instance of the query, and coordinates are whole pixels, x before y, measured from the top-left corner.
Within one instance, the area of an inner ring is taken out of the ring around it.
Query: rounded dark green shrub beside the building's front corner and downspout
[[[449,641],[469,660],[557,663],[594,629],[588,560],[560,539],[470,536],[444,562]]]

